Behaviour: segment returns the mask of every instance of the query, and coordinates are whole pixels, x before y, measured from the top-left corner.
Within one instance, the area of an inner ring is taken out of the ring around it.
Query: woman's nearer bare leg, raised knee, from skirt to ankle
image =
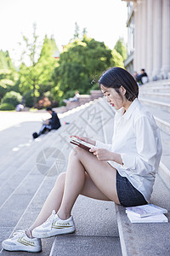
[[[94,154],[82,148],[77,147],[75,150],[71,151],[69,158],[64,195],[58,212],[59,218],[66,219],[71,216],[71,209],[78,195],[86,193],[86,195],[94,197],[85,189],[86,172],[95,187],[105,195],[105,198],[120,204],[116,193],[116,169],[106,162],[99,161]],[[99,199],[98,195],[96,197]]]

